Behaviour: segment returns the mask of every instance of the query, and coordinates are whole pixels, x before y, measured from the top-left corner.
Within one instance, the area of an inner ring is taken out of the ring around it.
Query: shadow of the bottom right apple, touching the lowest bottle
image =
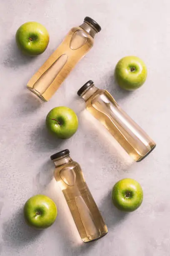
[[[118,223],[124,221],[129,215],[129,212],[122,212],[113,205],[112,190],[110,190],[107,195],[103,197],[99,209],[108,229],[113,228]]]

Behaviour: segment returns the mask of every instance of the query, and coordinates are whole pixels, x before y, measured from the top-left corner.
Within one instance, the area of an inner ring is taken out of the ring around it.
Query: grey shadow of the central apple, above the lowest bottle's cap
[[[35,147],[36,152],[49,153],[50,150],[57,151],[57,147],[64,143],[64,140],[57,139],[50,134],[45,125],[45,120],[42,120],[40,125],[35,128],[34,132],[31,134],[30,143]]]

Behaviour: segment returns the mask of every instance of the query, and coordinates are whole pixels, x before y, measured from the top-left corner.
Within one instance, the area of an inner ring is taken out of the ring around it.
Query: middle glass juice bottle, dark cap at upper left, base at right
[[[85,100],[86,109],[135,161],[144,159],[155,148],[155,142],[117,105],[107,90],[98,89],[90,80],[77,94]]]

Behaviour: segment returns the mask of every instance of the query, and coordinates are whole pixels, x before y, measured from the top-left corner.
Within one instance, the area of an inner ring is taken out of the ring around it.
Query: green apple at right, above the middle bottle
[[[116,65],[115,78],[122,89],[136,90],[144,84],[146,77],[146,65],[138,57],[126,56]]]

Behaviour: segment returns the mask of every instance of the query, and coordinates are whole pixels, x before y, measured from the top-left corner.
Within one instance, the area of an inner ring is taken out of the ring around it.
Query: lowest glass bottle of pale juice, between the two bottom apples
[[[107,234],[107,226],[87,187],[80,165],[70,158],[68,149],[51,156],[55,179],[70,208],[72,218],[84,243]]]

